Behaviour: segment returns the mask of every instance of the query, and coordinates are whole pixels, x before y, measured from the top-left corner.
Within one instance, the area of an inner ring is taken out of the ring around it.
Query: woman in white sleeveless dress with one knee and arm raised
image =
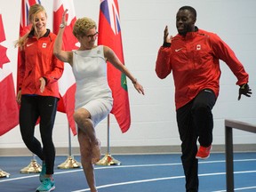
[[[144,94],[143,87],[132,76],[124,64],[108,46],[95,45],[98,35],[96,23],[89,18],[76,20],[73,34],[81,44],[72,52],[62,50],[62,36],[66,26],[66,10],[62,15],[59,34],[53,52],[64,62],[68,62],[76,78],[76,110],[74,119],[78,126],[78,141],[84,174],[91,188],[97,192],[93,164],[100,160],[100,140],[97,139],[95,126],[112,109],[113,98],[107,80],[107,60],[131,79],[134,88]]]

